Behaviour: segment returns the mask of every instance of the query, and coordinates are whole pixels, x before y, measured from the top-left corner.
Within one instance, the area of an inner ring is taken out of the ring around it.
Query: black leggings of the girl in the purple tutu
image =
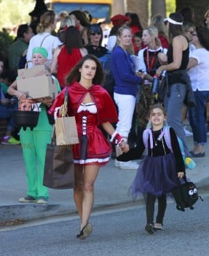
[[[158,200],[158,211],[156,222],[163,223],[163,217],[165,214],[165,209],[167,205],[166,195],[152,195],[151,193],[147,193],[146,195],[146,221],[149,224],[154,224],[154,203],[155,200]]]

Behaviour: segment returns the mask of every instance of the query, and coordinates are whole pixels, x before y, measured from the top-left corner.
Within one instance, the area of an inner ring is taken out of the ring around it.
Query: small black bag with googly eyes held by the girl
[[[185,208],[194,210],[194,203],[197,202],[198,198],[202,200],[202,197],[198,195],[197,187],[192,181],[187,181],[184,176],[184,183],[178,179],[178,187],[173,189],[173,197],[176,201],[176,208],[178,211],[185,211]],[[202,200],[203,201],[203,200]]]

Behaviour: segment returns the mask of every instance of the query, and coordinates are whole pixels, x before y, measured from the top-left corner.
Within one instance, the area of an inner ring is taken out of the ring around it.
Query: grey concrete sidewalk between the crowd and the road
[[[192,137],[186,138],[192,148]],[[196,158],[197,167],[186,170],[186,175],[199,189],[209,187],[209,146],[205,146],[205,157]],[[19,203],[18,198],[26,195],[25,166],[20,146],[0,145],[1,162],[1,201],[0,222],[15,219],[39,219],[60,214],[76,213],[73,189],[50,189],[50,200],[47,205],[36,203]],[[101,167],[95,183],[94,208],[115,204],[131,203],[132,197],[127,190],[135,177],[136,170],[120,170],[114,167],[111,160],[106,167]]]

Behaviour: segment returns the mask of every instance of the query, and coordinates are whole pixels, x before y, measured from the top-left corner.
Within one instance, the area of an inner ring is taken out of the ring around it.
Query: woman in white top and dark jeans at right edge
[[[209,29],[203,26],[197,27],[192,34],[192,43],[196,50],[191,53],[187,69],[197,105],[189,108],[189,122],[194,139],[194,148],[190,153],[192,157],[205,157],[204,144],[207,142],[205,105],[209,97]]]

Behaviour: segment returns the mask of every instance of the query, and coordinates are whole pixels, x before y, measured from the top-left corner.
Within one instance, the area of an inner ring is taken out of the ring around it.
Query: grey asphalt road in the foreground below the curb
[[[153,235],[143,227],[144,206],[96,211],[92,214],[92,235],[84,241],[75,237],[79,219],[47,219],[3,230],[1,255],[4,256],[205,256],[208,255],[209,197],[195,204],[194,211],[177,211],[168,203],[164,230]],[[12,242],[11,242],[12,241]]]

